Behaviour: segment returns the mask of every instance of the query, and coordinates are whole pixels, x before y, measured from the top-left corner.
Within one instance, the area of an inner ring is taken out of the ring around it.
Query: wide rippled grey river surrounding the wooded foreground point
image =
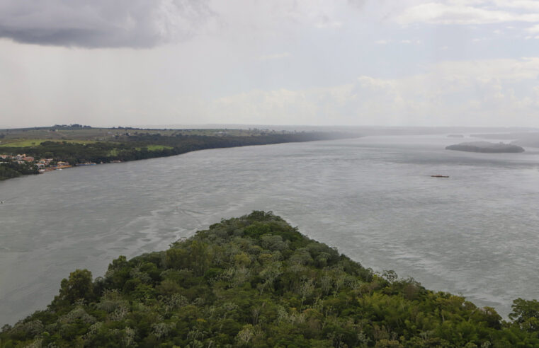
[[[45,308],[74,269],[98,277],[118,255],[254,209],[507,315],[514,298],[539,298],[539,149],[444,150],[464,140],[248,146],[0,182],[0,326]]]

